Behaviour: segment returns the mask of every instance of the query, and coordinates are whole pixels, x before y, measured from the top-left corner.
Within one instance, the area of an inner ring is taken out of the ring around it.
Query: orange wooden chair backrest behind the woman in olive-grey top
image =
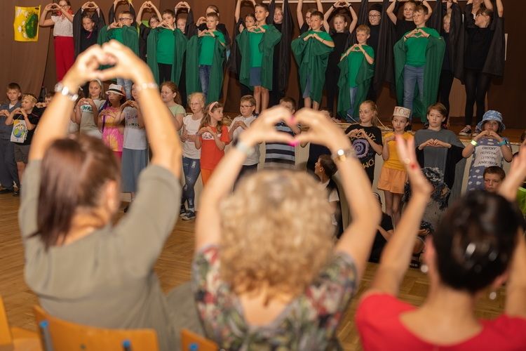
[[[40,306],[34,306],[36,324],[46,351],[75,350],[159,350],[153,329],[103,329],[67,322],[50,316]],[[129,345],[129,347],[126,347]]]

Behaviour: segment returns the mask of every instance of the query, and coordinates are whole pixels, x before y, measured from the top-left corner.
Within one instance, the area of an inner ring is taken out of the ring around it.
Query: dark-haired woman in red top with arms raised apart
[[[419,229],[432,187],[417,166],[414,144],[407,144],[399,152],[407,160],[412,199],[356,312],[364,350],[524,350],[526,244],[522,216],[508,201],[526,176],[526,157],[514,164],[501,195],[469,192],[450,207],[426,241],[430,289],[416,308],[397,300],[396,293],[411,256],[407,243]],[[478,319],[478,296],[497,289],[508,274],[504,314]]]

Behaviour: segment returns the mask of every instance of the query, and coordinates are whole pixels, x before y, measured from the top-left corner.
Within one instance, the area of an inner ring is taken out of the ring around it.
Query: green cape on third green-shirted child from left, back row
[[[199,48],[201,48],[201,40],[199,40],[197,35],[194,35],[187,44],[187,95],[195,93],[196,91],[201,92],[201,81],[199,80]],[[221,87],[223,86],[225,49],[216,37],[206,103],[219,100]]]

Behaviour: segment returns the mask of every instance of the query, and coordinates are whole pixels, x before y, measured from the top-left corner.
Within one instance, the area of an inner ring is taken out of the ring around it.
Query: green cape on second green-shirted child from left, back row
[[[161,84],[159,81],[159,65],[157,65],[157,37],[160,29],[152,29],[148,34],[148,48],[146,62],[154,74],[155,81],[157,84]],[[180,29],[175,28],[173,30],[173,37],[175,40],[175,53],[173,55],[172,64],[172,78],[177,86],[179,86],[179,80],[181,78],[182,60],[184,58],[184,52],[187,51],[187,37],[182,34]]]

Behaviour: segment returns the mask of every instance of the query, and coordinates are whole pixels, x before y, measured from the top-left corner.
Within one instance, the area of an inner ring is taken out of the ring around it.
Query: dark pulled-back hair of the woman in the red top
[[[468,192],[443,216],[433,245],[440,279],[476,293],[508,267],[524,218],[499,194]]]

